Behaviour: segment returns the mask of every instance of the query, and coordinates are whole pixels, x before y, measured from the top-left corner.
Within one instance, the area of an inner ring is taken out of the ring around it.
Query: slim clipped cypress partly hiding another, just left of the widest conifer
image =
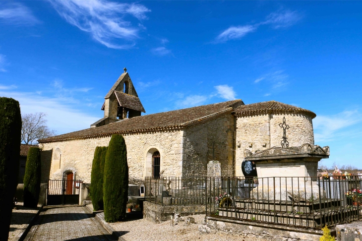
[[[100,193],[98,188],[98,181],[101,176],[100,172],[101,154],[102,154],[102,148],[100,146],[97,146],[96,150],[94,151],[94,157],[92,163],[91,190],[90,190],[94,211],[101,210],[98,202],[101,197],[103,199],[103,193]]]

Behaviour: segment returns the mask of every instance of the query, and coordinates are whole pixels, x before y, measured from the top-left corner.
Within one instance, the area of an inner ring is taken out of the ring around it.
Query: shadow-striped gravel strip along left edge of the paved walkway
[[[17,241],[28,227],[30,220],[36,215],[41,205],[38,208],[26,208],[22,202],[18,202],[12,210],[9,241]]]

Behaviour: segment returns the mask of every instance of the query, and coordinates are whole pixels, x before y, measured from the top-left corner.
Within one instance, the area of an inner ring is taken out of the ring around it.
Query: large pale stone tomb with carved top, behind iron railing
[[[245,161],[256,164],[258,185],[251,190],[254,199],[309,201],[325,199],[317,181],[318,162],[329,157],[329,147],[304,144],[301,147],[272,147],[252,154],[244,151]]]

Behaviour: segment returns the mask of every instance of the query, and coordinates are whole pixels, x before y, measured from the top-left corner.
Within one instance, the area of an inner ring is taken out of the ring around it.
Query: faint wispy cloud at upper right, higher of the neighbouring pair
[[[289,27],[301,19],[297,11],[278,11],[270,13],[262,24],[271,24],[273,28]]]

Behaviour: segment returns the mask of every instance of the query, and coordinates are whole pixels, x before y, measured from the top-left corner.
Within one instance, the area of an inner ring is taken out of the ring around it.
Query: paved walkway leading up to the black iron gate
[[[110,241],[112,236],[100,227],[85,207],[52,207],[39,215],[31,241]]]

